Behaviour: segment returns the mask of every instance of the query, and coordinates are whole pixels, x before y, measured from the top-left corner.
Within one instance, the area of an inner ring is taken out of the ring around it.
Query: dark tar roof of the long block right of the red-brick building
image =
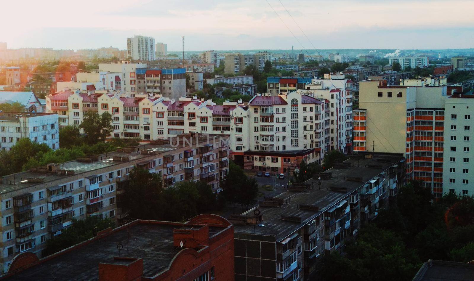
[[[390,159],[390,163],[378,162],[377,158]],[[352,158],[345,161],[351,163],[347,169],[331,168],[326,172],[333,174],[331,179],[309,180],[306,183],[314,184],[314,189],[306,191],[285,191],[276,198],[283,199],[282,207],[264,208],[259,207],[262,214],[262,221],[257,225],[235,225],[235,232],[257,233],[263,235],[272,235],[276,237],[276,241],[280,242],[287,236],[291,235],[298,228],[304,226],[319,214],[336,205],[341,199],[344,199],[349,193],[363,186],[367,181],[372,180],[381,172],[390,168],[393,164],[398,163],[403,157],[397,154],[376,154],[375,159]],[[379,164],[382,168],[370,168],[368,164]],[[347,181],[346,177],[362,177],[363,182]],[[338,192],[329,190],[329,187],[346,187],[347,192]],[[288,202],[290,202],[288,204]],[[298,204],[318,206],[319,211],[300,210]],[[242,215],[254,216],[254,208],[244,212]],[[291,222],[281,219],[281,215],[301,217],[301,223]]]

